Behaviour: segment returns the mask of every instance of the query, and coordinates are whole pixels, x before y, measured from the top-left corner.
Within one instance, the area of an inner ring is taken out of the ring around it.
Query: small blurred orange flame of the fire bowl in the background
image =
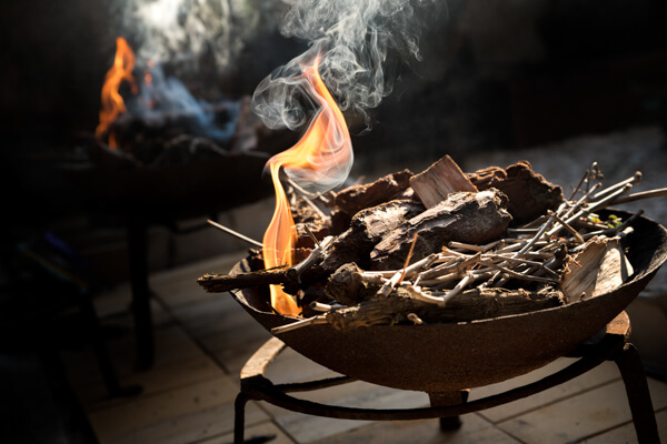
[[[107,72],[104,84],[102,85],[102,109],[100,110],[100,123],[98,124],[94,134],[98,140],[102,140],[104,134],[109,132],[111,123],[118,117],[127,112],[125,101],[118,92],[123,81],[130,82],[132,92],[137,92],[137,83],[132,75],[135,69],[135,53],[130,49],[128,42],[119,37],[116,39],[116,58],[113,65]],[[117,148],[116,135],[109,132],[109,147]]]

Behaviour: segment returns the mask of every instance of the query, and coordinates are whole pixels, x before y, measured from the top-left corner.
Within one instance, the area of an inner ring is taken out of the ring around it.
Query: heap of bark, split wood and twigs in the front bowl
[[[594,164],[565,199],[560,186],[527,162],[466,175],[482,191],[456,190],[460,175],[432,176],[437,171],[456,175],[450,162],[446,158],[421,174],[404,171],[332,195],[332,211],[356,213],[347,230],[326,238],[325,245],[308,229],[316,246],[298,265],[209,275],[199,283],[208,291],[279,283],[291,294],[315,284],[317,301],[307,305],[302,300],[303,319],[273,331],[281,333],[321,323],[350,329],[497,317],[595,297],[631,275],[624,238],[633,235],[630,224],[641,212],[627,220],[598,212],[627,199],[639,173],[603,188]],[[396,199],[411,193],[409,183],[440,188],[415,190],[430,208]],[[661,190],[639,196],[656,193]],[[532,219],[526,222],[528,215]],[[308,221],[305,226],[311,229],[334,223],[331,218]]]

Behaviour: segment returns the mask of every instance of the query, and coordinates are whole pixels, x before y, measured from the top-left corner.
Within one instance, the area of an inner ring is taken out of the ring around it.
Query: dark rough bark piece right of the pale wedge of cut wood
[[[517,224],[530,222],[548,210],[556,210],[565,199],[563,189],[532,171],[528,161],[507,169],[489,167],[468,174],[479,191],[495,188],[507,195],[507,210]]]

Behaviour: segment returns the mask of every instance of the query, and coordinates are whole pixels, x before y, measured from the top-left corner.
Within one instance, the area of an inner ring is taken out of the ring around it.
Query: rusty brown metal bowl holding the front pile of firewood
[[[615,211],[615,214],[629,216]],[[472,322],[375,325],[336,330],[309,325],[279,335],[303,356],[374,384],[428,393],[498,383],[566,355],[597,333],[644,290],[667,259],[667,230],[637,218],[625,241],[635,274],[616,291],[567,305]],[[249,271],[246,261],[232,273]],[[267,330],[295,322],[273,314],[268,287],[232,292]]]

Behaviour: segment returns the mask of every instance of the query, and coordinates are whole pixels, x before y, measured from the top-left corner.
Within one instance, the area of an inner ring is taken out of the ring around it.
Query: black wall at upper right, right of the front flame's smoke
[[[667,3],[452,0],[358,147],[397,163],[667,124]]]

